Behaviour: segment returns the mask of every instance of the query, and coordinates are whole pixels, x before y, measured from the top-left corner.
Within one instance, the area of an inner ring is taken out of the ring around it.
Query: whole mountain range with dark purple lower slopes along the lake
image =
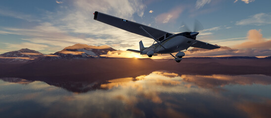
[[[75,44],[49,55],[30,49],[7,52],[0,55],[0,78],[13,77],[31,81],[82,79],[95,83],[97,80],[136,77],[157,70],[179,75],[271,75],[271,57],[183,58],[181,63],[176,63],[173,59],[121,59],[101,56],[109,51],[116,50],[109,46]]]

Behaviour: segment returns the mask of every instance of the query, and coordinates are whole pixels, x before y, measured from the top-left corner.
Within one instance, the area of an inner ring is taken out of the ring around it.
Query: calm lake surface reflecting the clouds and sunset
[[[104,82],[1,78],[0,118],[24,117],[271,118],[271,76],[154,71]]]

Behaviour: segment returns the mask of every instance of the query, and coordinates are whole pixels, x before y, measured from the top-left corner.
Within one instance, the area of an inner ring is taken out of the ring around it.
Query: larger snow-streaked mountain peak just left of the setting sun
[[[55,58],[99,58],[100,55],[107,54],[108,51],[116,51],[109,46],[90,46],[86,44],[75,44],[54,53]]]

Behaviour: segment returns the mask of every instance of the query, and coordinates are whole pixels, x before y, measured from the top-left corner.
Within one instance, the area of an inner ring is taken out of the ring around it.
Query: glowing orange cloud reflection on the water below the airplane
[[[168,85],[176,86],[181,84],[180,80],[180,76],[176,73],[155,71],[150,73],[149,75],[141,75],[135,78],[120,78],[109,80],[109,83],[102,84],[100,87],[103,89],[113,89],[118,87],[127,89],[133,88],[135,89],[134,92],[138,95],[143,96],[144,98],[149,99],[154,103],[160,104],[162,103],[162,99],[159,97],[159,92],[157,92],[157,89],[148,89],[148,87],[166,87]],[[129,105],[133,105],[136,101],[138,101],[138,98],[134,96],[117,95],[116,98],[123,100]]]

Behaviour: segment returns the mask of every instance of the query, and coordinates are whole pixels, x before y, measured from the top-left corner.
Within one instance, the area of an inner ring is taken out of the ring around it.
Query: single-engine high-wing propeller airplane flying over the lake
[[[185,49],[187,50],[189,47],[197,47],[209,50],[220,48],[219,46],[196,40],[196,36],[199,34],[199,32],[196,31],[174,34],[97,11],[94,12],[94,20],[120,29],[124,29],[138,35],[152,38],[156,43],[152,44],[150,47],[144,47],[142,41],[140,41],[140,50],[127,50],[140,53],[141,55],[148,55],[150,58],[157,54],[170,54],[172,57],[174,57],[176,62],[181,62],[182,57],[185,55],[181,51]],[[175,52],[178,53],[173,56],[172,53]]]

